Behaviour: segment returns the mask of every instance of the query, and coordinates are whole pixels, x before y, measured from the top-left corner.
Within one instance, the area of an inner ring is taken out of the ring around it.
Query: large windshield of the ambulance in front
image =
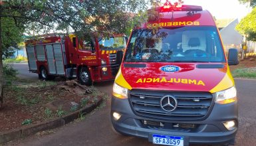
[[[126,62],[225,62],[215,27],[138,29],[132,33]]]

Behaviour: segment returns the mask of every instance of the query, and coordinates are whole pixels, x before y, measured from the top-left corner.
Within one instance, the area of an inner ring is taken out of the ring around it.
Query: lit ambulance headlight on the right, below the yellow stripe
[[[235,89],[235,87],[216,92],[215,102],[217,102],[218,104],[229,104],[235,101],[237,101],[237,90]]]

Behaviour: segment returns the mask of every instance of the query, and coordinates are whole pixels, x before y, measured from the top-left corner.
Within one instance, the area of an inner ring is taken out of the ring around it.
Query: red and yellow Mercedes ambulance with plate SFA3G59
[[[128,40],[111,105],[114,130],[159,145],[231,145],[237,91],[209,11],[166,2]]]

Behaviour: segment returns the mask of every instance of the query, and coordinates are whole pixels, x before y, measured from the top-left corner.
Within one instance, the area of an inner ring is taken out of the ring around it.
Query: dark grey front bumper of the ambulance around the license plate
[[[120,113],[120,119],[116,120],[113,113]],[[223,125],[223,122],[233,120],[236,122],[235,129],[229,131]],[[152,142],[153,134],[171,135],[184,137],[184,145],[191,143],[219,144],[234,143],[237,133],[237,102],[220,105],[215,104],[209,116],[202,121],[161,121],[158,119],[149,119],[140,117],[132,110],[128,99],[121,100],[112,97],[111,121],[114,129],[124,135],[143,137]],[[164,129],[144,125],[143,121],[161,121],[161,123],[188,123],[195,124],[197,127],[188,129]]]

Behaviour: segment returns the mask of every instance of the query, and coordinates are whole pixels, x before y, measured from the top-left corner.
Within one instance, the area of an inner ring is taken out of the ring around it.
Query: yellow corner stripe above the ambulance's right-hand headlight
[[[227,73],[225,74],[224,78],[221,80],[221,82],[219,82],[219,84],[217,84],[217,86],[212,88],[209,92],[215,93],[221,90],[231,88],[233,86],[235,86],[235,82],[229,70],[229,66],[227,66]]]

